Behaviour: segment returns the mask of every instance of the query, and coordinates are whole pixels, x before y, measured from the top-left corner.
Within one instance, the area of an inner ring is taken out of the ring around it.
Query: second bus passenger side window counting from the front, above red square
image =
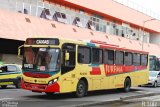
[[[102,64],[102,50],[92,48],[92,64]]]

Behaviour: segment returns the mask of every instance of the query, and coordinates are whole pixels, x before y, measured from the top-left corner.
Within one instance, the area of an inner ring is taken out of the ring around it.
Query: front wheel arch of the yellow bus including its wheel
[[[88,92],[88,81],[85,77],[79,79],[76,87],[76,96],[83,97]]]

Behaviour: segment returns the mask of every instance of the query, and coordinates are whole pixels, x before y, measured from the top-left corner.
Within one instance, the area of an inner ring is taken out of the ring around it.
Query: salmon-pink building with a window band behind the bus
[[[160,54],[160,21],[113,0],[0,2],[2,63],[20,64],[15,57],[17,48],[28,37],[100,40]]]

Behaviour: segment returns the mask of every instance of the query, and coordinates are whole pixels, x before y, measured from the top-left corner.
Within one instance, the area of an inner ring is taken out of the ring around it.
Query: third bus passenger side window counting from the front
[[[104,50],[104,63],[114,64],[114,51],[113,50]]]

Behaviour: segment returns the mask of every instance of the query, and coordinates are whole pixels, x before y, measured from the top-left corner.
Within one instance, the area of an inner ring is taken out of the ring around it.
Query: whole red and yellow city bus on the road
[[[23,89],[33,92],[75,92],[124,89],[147,84],[148,52],[102,41],[28,38],[23,47]]]

